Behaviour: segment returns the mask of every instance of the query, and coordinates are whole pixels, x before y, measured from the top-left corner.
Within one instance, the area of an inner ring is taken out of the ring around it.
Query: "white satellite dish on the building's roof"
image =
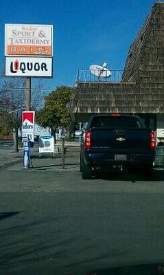
[[[106,69],[107,63],[104,62],[102,66],[99,65],[91,65],[89,67],[91,74],[94,74],[98,78],[108,78],[111,76],[111,72],[109,69]]]

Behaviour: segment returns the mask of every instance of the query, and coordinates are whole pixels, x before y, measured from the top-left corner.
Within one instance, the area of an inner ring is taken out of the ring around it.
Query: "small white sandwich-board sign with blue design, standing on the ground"
[[[41,135],[39,137],[39,153],[54,153],[55,142],[51,135]]]

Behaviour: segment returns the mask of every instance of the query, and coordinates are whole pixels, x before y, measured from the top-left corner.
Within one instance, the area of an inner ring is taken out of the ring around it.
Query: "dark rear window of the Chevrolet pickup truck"
[[[108,129],[141,129],[143,124],[137,118],[119,117],[97,117],[93,120],[93,128]]]

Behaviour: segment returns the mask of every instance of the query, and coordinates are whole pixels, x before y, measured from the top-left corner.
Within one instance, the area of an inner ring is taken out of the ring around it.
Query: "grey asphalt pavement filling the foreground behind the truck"
[[[0,171],[1,275],[164,262],[164,171],[149,181],[126,171],[82,180],[78,170]]]

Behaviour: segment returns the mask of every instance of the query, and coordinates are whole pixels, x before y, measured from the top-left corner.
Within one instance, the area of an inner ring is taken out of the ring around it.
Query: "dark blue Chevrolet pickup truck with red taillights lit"
[[[83,133],[82,179],[91,179],[97,170],[110,168],[137,168],[151,173],[155,148],[153,131],[137,115],[95,114]]]

